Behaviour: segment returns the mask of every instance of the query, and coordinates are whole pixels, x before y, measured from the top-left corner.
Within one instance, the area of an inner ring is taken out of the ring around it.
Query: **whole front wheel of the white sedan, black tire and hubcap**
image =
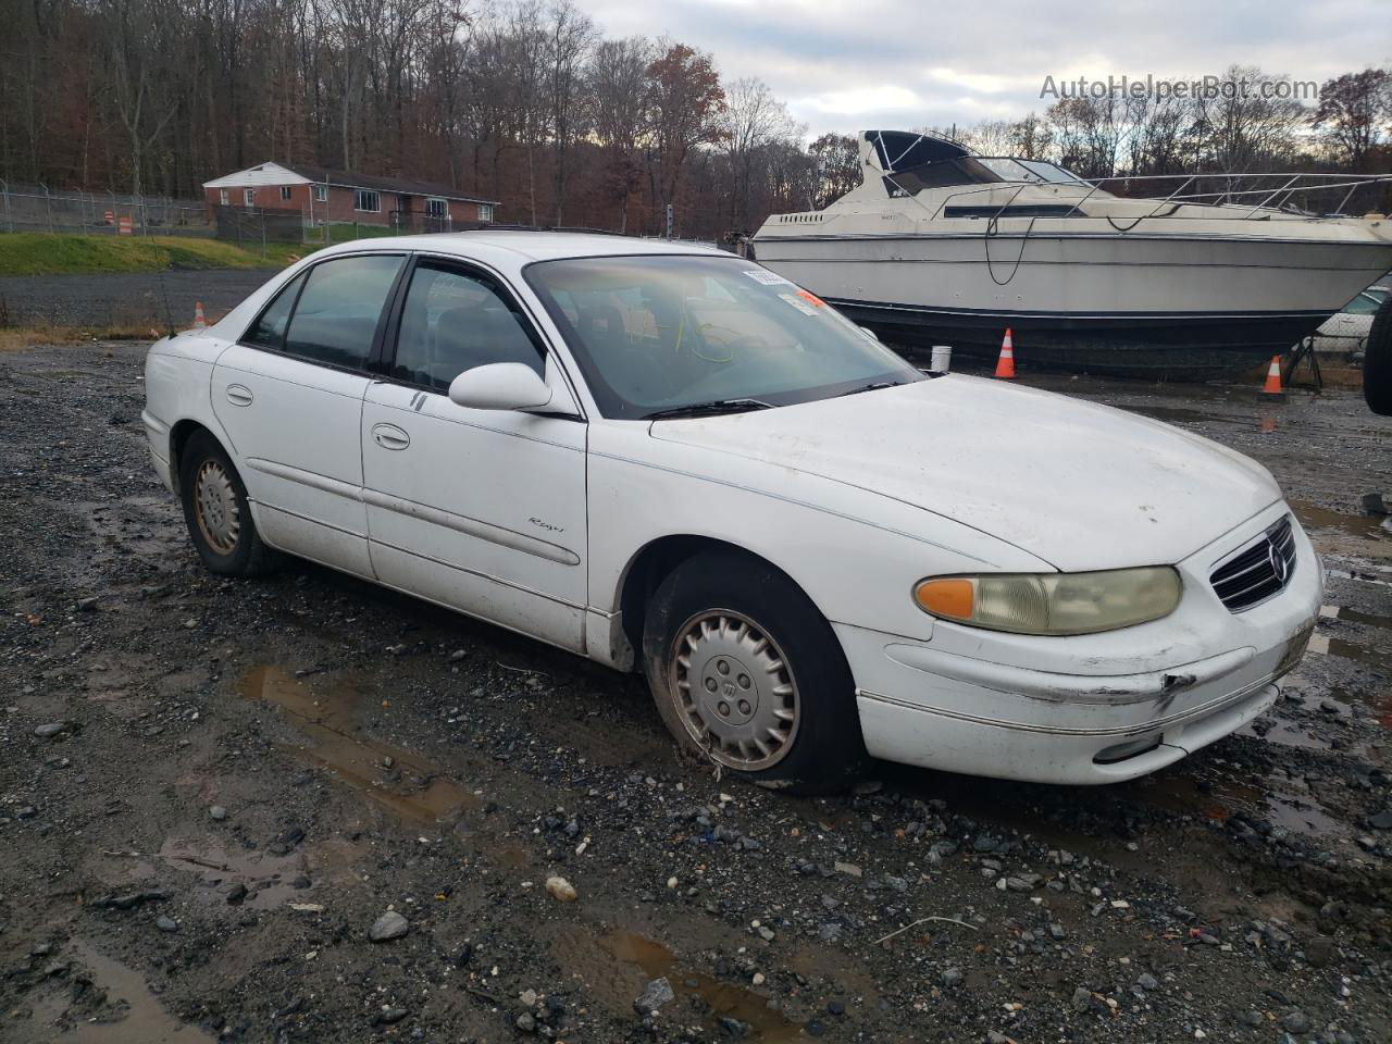
[[[864,767],[855,683],[831,625],[754,555],[700,551],[658,585],[643,663],[678,743],[750,782],[837,793]]]

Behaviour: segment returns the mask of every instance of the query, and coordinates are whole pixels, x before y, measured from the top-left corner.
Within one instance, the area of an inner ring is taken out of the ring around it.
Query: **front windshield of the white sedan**
[[[526,278],[610,418],[923,380],[820,298],[736,258],[578,258],[533,263]]]

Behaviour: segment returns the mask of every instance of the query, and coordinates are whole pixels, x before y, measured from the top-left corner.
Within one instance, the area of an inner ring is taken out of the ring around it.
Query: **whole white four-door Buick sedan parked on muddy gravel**
[[[1270,707],[1320,606],[1253,461],[920,372],[685,244],[326,249],[159,341],[146,394],[209,569],[298,555],[642,671],[689,750],[796,792],[867,754],[1154,771]]]

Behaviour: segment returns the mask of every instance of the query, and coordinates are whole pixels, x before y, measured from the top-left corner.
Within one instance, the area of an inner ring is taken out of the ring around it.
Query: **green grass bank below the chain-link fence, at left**
[[[0,235],[0,276],[92,276],[168,269],[256,269],[287,264],[312,246],[267,244],[242,248],[219,239],[175,235]]]

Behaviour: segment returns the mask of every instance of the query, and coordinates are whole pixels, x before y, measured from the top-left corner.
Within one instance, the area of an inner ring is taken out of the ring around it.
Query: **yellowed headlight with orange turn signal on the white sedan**
[[[1179,604],[1179,574],[1143,569],[983,574],[920,580],[913,600],[924,612],[1016,635],[1091,635],[1160,619]]]

